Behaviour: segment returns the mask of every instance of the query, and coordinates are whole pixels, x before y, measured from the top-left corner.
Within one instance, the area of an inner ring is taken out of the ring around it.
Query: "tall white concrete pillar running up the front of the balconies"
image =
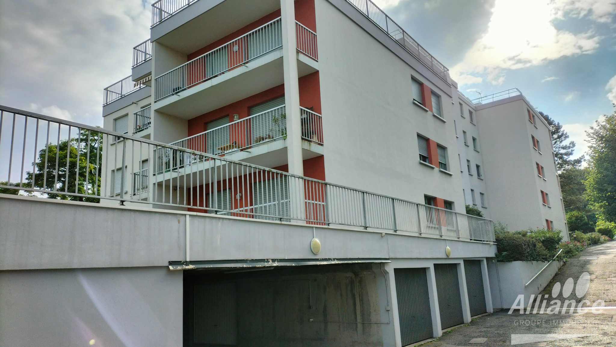
[[[285,73],[286,145],[289,173],[304,175],[299,113],[298,57],[293,0],[280,0],[282,14],[282,61]]]

